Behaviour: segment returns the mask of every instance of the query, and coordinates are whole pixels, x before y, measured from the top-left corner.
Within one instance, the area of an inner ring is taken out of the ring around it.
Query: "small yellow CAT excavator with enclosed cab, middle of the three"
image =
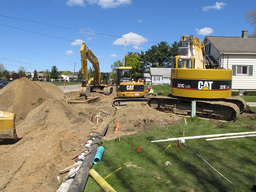
[[[116,95],[113,107],[124,106],[131,103],[146,104],[144,83],[134,82],[132,67],[116,68]]]

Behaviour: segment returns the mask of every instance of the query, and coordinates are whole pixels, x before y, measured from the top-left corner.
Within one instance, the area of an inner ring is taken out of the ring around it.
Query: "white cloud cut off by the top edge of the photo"
[[[121,5],[129,5],[132,4],[131,0],[85,0],[89,4],[97,3],[102,8],[115,8]]]

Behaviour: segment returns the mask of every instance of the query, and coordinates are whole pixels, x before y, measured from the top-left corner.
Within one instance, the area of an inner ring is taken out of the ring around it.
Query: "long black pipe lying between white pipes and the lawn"
[[[110,123],[111,123],[111,121],[107,124],[107,126],[103,130],[103,132],[102,132],[103,135],[105,135],[105,133],[107,132],[108,126]],[[100,138],[95,138],[94,140],[97,141],[97,140],[100,140]],[[83,192],[84,191],[84,187],[85,187],[86,182],[89,177],[89,171],[92,168],[93,158],[94,158],[94,156],[97,152],[97,148],[99,146],[100,146],[100,144],[97,143],[90,147],[92,149],[92,152],[90,153],[90,155],[88,155],[84,158],[84,161],[83,161],[80,169],[76,173],[75,179],[73,180],[68,192]]]

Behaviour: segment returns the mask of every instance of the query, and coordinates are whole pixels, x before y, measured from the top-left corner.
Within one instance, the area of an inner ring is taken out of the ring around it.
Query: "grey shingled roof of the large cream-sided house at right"
[[[256,54],[256,37],[205,36],[220,53]]]

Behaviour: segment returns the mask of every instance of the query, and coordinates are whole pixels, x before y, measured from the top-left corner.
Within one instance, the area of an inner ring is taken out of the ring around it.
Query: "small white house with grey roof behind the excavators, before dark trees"
[[[147,84],[170,84],[171,68],[149,68],[149,73],[144,73],[144,82]]]

